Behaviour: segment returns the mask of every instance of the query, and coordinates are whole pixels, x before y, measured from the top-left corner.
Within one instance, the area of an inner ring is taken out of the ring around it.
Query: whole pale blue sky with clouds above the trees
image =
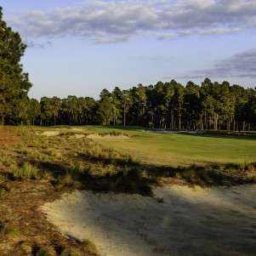
[[[256,0],[0,0],[31,98],[174,79],[256,87]]]

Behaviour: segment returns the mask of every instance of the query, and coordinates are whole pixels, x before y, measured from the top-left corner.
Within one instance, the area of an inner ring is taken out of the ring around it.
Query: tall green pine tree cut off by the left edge
[[[4,122],[9,117],[13,122],[14,101],[27,100],[28,90],[31,88],[28,74],[20,64],[26,44],[22,43],[18,32],[12,31],[2,20],[3,13],[0,7],[0,117]]]

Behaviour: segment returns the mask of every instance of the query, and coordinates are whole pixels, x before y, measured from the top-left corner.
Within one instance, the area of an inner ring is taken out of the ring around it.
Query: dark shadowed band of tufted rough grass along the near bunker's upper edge
[[[29,162],[42,173],[48,172],[49,177],[45,176],[45,179],[51,180],[57,191],[83,189],[152,196],[152,187],[160,185],[160,179],[202,187],[256,183],[256,162],[240,165],[193,164],[174,168],[137,162],[131,156],[111,158],[104,155],[91,156],[89,153],[77,153],[72,158],[73,164],[32,159]],[[44,179],[43,174],[40,177]]]

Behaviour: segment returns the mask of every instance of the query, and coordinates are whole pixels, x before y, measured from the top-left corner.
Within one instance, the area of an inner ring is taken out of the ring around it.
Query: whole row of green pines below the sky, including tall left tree
[[[0,121],[26,125],[134,125],[150,128],[253,130],[256,88],[205,78],[201,86],[172,80],[112,92],[100,100],[68,96],[30,99],[31,82],[20,64],[26,45],[2,20],[0,7]]]

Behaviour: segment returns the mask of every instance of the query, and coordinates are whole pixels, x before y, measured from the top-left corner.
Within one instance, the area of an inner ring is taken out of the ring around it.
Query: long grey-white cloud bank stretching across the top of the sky
[[[84,1],[8,19],[23,37],[86,37],[95,43],[139,34],[174,38],[238,32],[256,25],[256,0]]]

